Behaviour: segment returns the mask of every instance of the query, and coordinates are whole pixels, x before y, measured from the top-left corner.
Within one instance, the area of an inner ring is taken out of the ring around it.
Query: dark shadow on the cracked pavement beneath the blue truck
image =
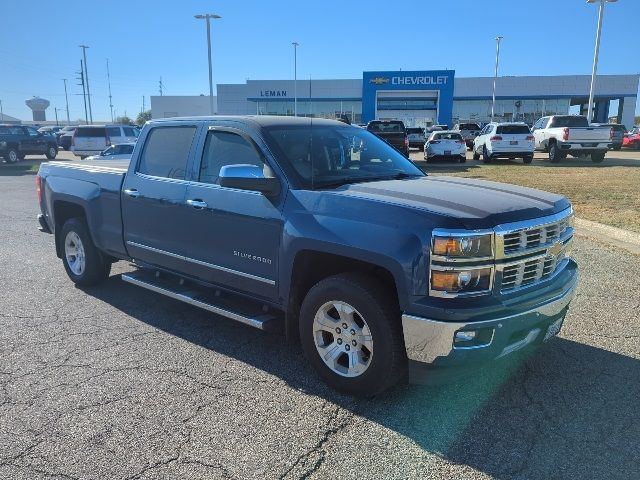
[[[498,479],[639,478],[638,359],[556,338],[456,383],[403,385],[374,399],[354,399],[326,387],[301,361],[299,345],[283,334],[216,317],[118,276],[85,291],[136,321],[267,372],[466,465],[469,477],[476,470]],[[360,451],[385,448],[367,439],[368,422],[353,428],[365,429]]]

